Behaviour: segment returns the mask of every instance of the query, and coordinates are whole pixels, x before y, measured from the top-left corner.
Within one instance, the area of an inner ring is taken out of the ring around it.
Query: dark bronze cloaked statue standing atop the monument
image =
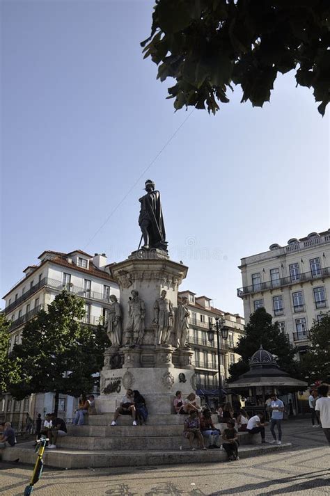
[[[160,193],[155,191],[155,183],[148,179],[145,183],[147,194],[139,198],[141,210],[139,226],[143,237],[143,247],[160,248],[167,251],[165,227],[163,220]]]

